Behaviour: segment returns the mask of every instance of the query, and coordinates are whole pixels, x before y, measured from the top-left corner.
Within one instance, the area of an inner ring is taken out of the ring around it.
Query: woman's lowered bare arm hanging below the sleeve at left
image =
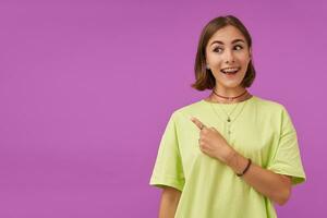
[[[177,189],[165,186],[160,199],[159,218],[174,218],[181,192]]]

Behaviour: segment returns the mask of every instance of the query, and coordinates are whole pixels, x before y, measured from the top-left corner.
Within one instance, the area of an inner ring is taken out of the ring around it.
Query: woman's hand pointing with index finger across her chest
[[[232,154],[232,147],[215,128],[207,128],[198,119],[191,121],[199,129],[199,148],[206,155],[227,164]]]

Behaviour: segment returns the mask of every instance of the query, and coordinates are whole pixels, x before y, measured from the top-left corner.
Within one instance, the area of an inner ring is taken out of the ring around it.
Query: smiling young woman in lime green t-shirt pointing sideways
[[[150,185],[162,187],[160,218],[277,217],[292,185],[304,182],[296,132],[287,109],[249,93],[252,39],[232,15],[203,29],[195,59],[205,99],[172,112]]]

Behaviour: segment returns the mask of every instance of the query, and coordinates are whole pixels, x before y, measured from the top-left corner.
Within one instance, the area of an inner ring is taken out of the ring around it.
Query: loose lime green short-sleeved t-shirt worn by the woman
[[[231,113],[228,122],[228,113]],[[286,108],[252,98],[237,104],[199,100],[172,112],[158,149],[150,185],[172,186],[181,197],[175,218],[274,218],[274,203],[198,146],[197,118],[241,155],[276,173],[305,181],[298,137]]]

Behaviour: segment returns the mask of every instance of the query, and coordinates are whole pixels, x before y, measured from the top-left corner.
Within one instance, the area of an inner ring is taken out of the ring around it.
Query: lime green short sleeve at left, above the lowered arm
[[[150,178],[150,185],[172,186],[182,191],[184,173],[179,152],[174,113],[171,114],[158,148],[157,159]]]

